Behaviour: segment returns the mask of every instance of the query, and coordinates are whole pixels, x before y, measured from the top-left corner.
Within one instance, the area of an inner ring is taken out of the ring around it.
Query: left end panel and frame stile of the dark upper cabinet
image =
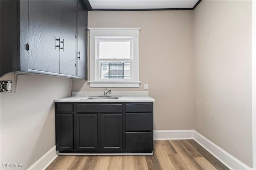
[[[28,72],[28,1],[0,1],[1,77]]]

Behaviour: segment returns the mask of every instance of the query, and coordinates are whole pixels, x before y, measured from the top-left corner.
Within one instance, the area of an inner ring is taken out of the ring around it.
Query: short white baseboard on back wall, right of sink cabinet
[[[194,130],[154,131],[154,140],[194,139]]]

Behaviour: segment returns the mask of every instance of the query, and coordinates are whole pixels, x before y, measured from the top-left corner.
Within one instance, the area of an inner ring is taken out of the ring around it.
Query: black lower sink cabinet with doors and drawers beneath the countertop
[[[56,147],[64,153],[152,153],[153,103],[56,102]]]

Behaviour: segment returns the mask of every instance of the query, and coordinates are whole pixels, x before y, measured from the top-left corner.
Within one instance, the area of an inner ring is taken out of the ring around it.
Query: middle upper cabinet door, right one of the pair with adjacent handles
[[[76,76],[76,1],[60,6],[60,74]]]

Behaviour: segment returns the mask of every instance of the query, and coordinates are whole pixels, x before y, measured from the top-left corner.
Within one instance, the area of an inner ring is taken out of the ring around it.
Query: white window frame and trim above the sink
[[[88,28],[90,30],[90,87],[139,87],[139,30],[140,28]],[[100,40],[120,40],[131,43],[130,59],[99,59]],[[130,79],[100,79],[100,61],[130,61]]]

